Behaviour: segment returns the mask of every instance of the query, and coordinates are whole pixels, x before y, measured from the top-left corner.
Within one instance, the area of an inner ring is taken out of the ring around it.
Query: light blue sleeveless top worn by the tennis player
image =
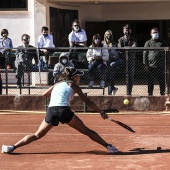
[[[70,101],[74,96],[74,90],[67,84],[61,82],[56,85],[51,92],[49,107],[70,106]]]

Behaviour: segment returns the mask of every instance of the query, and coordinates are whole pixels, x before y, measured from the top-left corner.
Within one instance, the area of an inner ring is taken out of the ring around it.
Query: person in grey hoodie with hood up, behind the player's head
[[[71,60],[69,60],[69,53],[61,53],[59,57],[59,62],[55,64],[54,70],[53,70],[54,83],[58,82],[58,78],[64,72],[64,69],[66,67],[74,68],[74,64],[72,63]]]

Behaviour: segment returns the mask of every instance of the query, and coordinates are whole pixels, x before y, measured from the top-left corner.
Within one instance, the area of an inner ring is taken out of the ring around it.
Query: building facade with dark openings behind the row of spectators
[[[94,33],[111,29],[115,41],[122,36],[122,26],[131,24],[139,46],[150,38],[151,27],[159,27],[161,36],[170,44],[170,0],[26,0],[27,8],[0,8],[0,30],[8,29],[14,47],[21,44],[21,35],[31,36],[37,46],[41,27],[48,26],[55,45],[68,46],[72,20],[78,18],[86,30],[88,44]]]

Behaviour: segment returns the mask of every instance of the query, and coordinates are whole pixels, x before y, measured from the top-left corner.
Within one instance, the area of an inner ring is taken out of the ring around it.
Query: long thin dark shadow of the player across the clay
[[[127,152],[116,152],[116,153],[107,153],[106,151],[97,151],[97,150],[93,150],[93,151],[87,151],[87,152],[32,152],[32,153],[18,153],[18,152],[13,152],[10,153],[10,155],[23,155],[23,154],[30,154],[30,155],[39,155],[39,154],[92,154],[92,155],[142,155],[142,154],[157,154],[157,153],[168,153],[170,152],[170,149],[155,149],[155,150],[148,150],[145,148],[134,148],[131,149]]]

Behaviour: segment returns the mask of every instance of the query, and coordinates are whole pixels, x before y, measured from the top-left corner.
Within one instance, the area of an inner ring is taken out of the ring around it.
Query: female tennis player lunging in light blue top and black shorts
[[[14,145],[3,145],[2,153],[11,153],[21,146],[42,138],[53,126],[58,126],[59,122],[63,124],[67,123],[80,133],[89,136],[93,141],[106,147],[108,153],[118,152],[117,148],[106,143],[96,132],[86,127],[70,109],[70,101],[74,94],[77,93],[89,107],[99,112],[103,119],[108,118],[107,114],[90,101],[78,86],[80,76],[83,74],[83,72],[77,69],[66,68],[64,73],[60,76],[59,82],[47,89],[43,94],[44,96],[51,95],[51,99],[45,119],[42,121],[37,132],[35,132],[35,134],[26,135]]]

